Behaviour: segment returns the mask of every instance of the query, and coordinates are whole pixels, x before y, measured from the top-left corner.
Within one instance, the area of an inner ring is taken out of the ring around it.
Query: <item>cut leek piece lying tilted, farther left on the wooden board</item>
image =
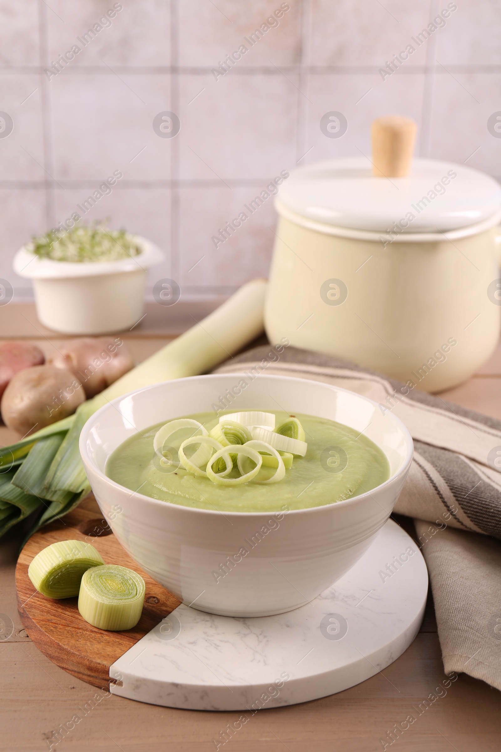
[[[104,564],[101,554],[85,541],[58,541],[40,553],[28,568],[28,576],[47,598],[71,598],[80,591],[84,572]]]

